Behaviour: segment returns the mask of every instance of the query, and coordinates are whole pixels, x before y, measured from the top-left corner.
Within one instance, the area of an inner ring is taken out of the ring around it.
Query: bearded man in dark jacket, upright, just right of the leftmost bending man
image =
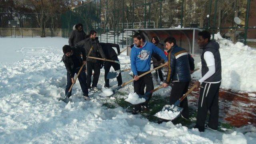
[[[97,32],[95,30],[90,31],[90,35],[86,36],[86,38],[76,44],[76,46],[83,47],[86,56],[88,55],[91,47],[92,52],[90,53],[90,56],[96,57],[96,58],[106,58],[98,38],[96,38]],[[97,84],[100,77],[100,68],[101,68],[101,62],[100,60],[96,60],[93,58],[87,58],[87,86],[88,88],[92,88],[93,91],[98,91]],[[94,70],[93,74],[93,81],[91,86],[91,77],[92,77],[92,70]]]

